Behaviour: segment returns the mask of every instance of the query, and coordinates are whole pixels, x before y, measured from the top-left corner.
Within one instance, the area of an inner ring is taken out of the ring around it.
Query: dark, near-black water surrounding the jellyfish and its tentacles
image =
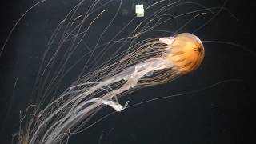
[[[18,130],[18,111],[24,111],[26,106],[34,102],[31,91],[46,42],[54,28],[76,2],[67,0],[44,2],[26,14],[14,30],[0,61],[0,143],[10,143],[11,134]],[[224,3],[221,0],[186,2],[199,2],[206,7],[222,6]],[[35,2],[3,0],[1,3],[0,43],[2,46],[14,22]],[[153,1],[124,1],[121,10],[126,9],[128,13],[118,14],[114,26],[110,27],[103,38],[104,41],[107,42],[108,37],[113,36],[116,30],[125,26],[130,18],[134,17],[133,7],[136,3],[149,6]],[[110,15],[114,14],[118,8],[115,4],[117,3],[109,6]],[[162,86],[138,90],[122,98],[121,102],[129,100],[130,105],[133,105],[152,98],[200,90],[225,80],[239,79],[239,81],[224,82],[198,93],[134,106],[122,113],[111,115],[80,134],[75,134],[70,138],[70,143],[98,143],[102,134],[102,144],[256,142],[255,10],[248,1],[239,0],[230,0],[225,7],[238,19],[223,10],[195,34],[202,40],[234,42],[243,48],[206,42],[204,44],[205,60],[193,74],[187,74]],[[182,14],[183,11],[192,8],[193,6],[184,6],[174,11]],[[158,10],[158,7],[154,10]],[[170,27],[171,30],[177,30],[181,23],[187,21],[186,18],[179,18],[174,25],[165,23],[162,28]],[[210,15],[207,18],[209,19]],[[206,22],[207,18],[198,18],[184,27],[181,32],[195,30]],[[133,30],[141,20],[138,18],[127,31]],[[103,16],[99,21],[95,23],[95,27],[101,27],[104,24],[106,26],[109,22],[108,15]],[[101,30],[95,28],[90,31],[91,45],[96,42]],[[248,50],[254,52],[248,52]],[[69,83],[72,75],[76,75],[76,72],[70,73],[70,77],[67,76],[69,78],[66,78],[66,83]],[[18,82],[14,90],[16,78]],[[62,89],[68,86],[66,83],[62,84]],[[106,107],[100,113],[104,115],[112,111]]]

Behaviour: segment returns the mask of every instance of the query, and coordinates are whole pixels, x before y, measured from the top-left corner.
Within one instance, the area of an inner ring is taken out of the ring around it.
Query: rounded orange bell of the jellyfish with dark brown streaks
[[[205,56],[202,41],[190,33],[182,33],[174,38],[160,38],[167,45],[167,58],[172,62],[178,72],[190,73],[201,65]]]

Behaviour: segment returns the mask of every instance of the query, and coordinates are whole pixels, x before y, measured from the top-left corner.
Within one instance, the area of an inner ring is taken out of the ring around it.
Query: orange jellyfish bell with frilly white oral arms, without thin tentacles
[[[159,38],[159,42],[166,44],[166,48],[163,48],[166,54],[162,54],[162,57],[159,58],[152,58],[146,60],[146,62],[141,62],[113,78],[116,81],[126,81],[126,85],[120,89],[120,92],[133,88],[143,77],[152,76],[154,70],[171,69],[173,72],[169,77],[174,78],[174,75],[190,73],[201,65],[205,55],[204,46],[201,40],[194,34],[183,33],[170,38]],[[125,106],[121,106],[119,103],[104,99],[108,98],[102,98],[102,100],[97,98],[95,102],[111,106],[116,111],[125,109],[128,104],[126,102]]]

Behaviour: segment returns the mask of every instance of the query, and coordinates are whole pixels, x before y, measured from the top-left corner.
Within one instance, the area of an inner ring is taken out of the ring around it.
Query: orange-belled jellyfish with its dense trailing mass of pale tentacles
[[[82,80],[70,86],[66,93],[38,113],[37,119],[27,127],[30,134],[23,135],[21,143],[63,142],[103,106],[110,106],[117,112],[124,110],[128,102],[124,105],[118,102],[124,93],[170,82],[196,70],[203,58],[204,47],[194,34],[147,39],[114,65],[102,68],[112,70],[112,76],[98,82]]]

